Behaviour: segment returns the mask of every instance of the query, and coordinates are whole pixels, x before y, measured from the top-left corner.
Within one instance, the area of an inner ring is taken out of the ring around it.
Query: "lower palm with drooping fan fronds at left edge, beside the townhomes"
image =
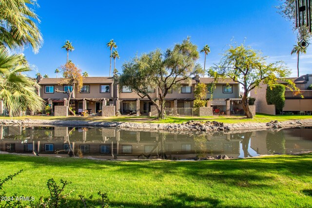
[[[42,98],[36,93],[40,88],[38,83],[22,74],[31,71],[28,65],[19,64],[22,58],[22,55],[9,55],[0,47],[0,99],[11,116],[27,108],[41,111],[44,107]]]

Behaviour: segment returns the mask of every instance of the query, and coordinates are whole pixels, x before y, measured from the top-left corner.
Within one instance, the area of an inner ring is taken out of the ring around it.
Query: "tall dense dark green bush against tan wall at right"
[[[285,85],[277,84],[267,88],[266,100],[268,105],[275,105],[276,111],[282,112],[285,106]]]

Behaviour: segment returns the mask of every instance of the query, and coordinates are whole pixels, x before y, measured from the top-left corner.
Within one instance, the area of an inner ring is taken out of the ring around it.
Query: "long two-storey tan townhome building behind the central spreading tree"
[[[39,95],[50,105],[65,105],[67,93],[57,91],[71,90],[71,86],[61,85],[62,78],[38,77],[41,86]],[[241,98],[239,98],[239,83],[230,79],[215,79],[206,77],[193,78],[190,82],[182,82],[181,87],[170,91],[165,98],[166,109],[193,108],[194,91],[198,82],[207,84],[207,107],[212,106],[217,114],[242,114]],[[149,94],[159,103],[159,89],[151,88]],[[76,113],[88,110],[90,114],[99,113],[102,105],[115,105],[116,111],[122,114],[148,114],[153,103],[147,97],[140,97],[127,86],[115,85],[112,77],[84,77],[83,87],[76,90],[71,99],[71,107]]]

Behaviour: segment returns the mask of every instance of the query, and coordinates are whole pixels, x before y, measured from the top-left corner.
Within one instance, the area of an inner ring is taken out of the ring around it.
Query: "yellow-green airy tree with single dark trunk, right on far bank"
[[[220,63],[209,70],[210,76],[215,77],[215,82],[218,78],[230,78],[241,84],[244,90],[242,107],[247,118],[253,118],[249,109],[248,94],[259,87],[261,82],[273,86],[279,78],[286,81],[291,88],[296,89],[292,81],[285,78],[290,75],[290,70],[280,61],[268,64],[266,58],[261,56],[259,51],[243,44],[236,47],[230,46],[223,54]]]

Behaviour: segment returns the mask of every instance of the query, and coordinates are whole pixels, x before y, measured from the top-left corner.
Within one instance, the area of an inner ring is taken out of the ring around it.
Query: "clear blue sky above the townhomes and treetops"
[[[187,36],[198,45],[211,48],[206,65],[217,63],[231,39],[261,50],[268,61],[283,60],[296,75],[296,56],[290,56],[296,36],[291,23],[277,13],[280,0],[38,0],[36,13],[44,44],[38,54],[25,49],[34,70],[55,77],[55,69],[66,62],[61,49],[70,40],[75,50],[69,54],[89,76],[109,75],[110,51],[106,43],[114,39],[120,59],[117,69],[136,54],[156,48],[165,50]],[[312,46],[301,56],[301,75],[312,73]],[[201,54],[199,63],[203,65]],[[30,73],[35,76],[36,72]]]

